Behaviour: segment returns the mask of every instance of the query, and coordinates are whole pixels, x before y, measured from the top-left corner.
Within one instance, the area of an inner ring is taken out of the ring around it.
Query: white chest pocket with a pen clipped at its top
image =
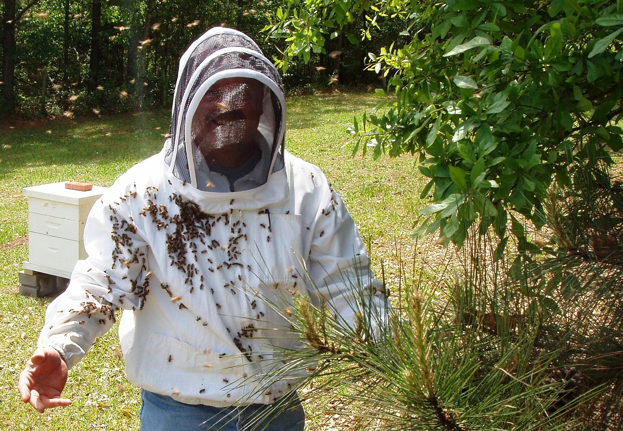
[[[255,213],[245,215],[245,224],[244,262],[260,283],[293,283],[302,278],[309,246],[300,215]]]

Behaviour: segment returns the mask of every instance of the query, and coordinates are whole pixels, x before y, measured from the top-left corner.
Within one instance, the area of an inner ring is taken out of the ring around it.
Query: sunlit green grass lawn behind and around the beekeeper
[[[369,94],[310,95],[288,99],[286,146],[320,166],[343,197],[369,243],[374,269],[396,276],[411,256],[414,215],[424,181],[409,157],[379,161],[351,157],[346,127],[376,104]],[[80,180],[110,185],[128,167],[159,152],[169,111],[47,123],[0,124],[0,429],[129,430],[138,427],[138,390],[123,377],[116,328],[70,371],[66,409],[43,415],[22,404],[17,375],[36,346],[49,298],[18,294],[17,272],[27,260],[27,201],[22,188]],[[309,415],[308,429],[321,419]]]

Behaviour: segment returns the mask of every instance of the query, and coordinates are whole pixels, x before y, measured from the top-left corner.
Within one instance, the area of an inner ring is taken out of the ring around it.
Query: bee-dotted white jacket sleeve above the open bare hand
[[[125,201],[95,203],[84,231],[88,258],[78,261],[69,286],[45,312],[38,345],[57,349],[68,367],[113,326],[117,309],[140,308],[145,301],[147,247],[131,213]]]

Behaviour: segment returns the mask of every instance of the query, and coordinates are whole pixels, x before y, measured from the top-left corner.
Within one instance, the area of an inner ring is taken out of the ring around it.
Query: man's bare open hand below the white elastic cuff
[[[23,402],[28,402],[39,413],[52,407],[65,407],[71,400],[61,398],[67,382],[67,364],[52,347],[40,347],[19,374],[17,389]]]

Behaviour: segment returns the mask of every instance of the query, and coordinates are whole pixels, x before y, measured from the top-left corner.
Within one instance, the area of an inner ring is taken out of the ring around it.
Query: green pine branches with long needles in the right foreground
[[[387,315],[363,285],[353,324],[298,298],[305,347],[272,377],[307,370],[303,400],[353,430],[621,429],[621,304],[605,274],[578,256],[495,259],[492,238],[469,238],[444,274],[403,268]]]

